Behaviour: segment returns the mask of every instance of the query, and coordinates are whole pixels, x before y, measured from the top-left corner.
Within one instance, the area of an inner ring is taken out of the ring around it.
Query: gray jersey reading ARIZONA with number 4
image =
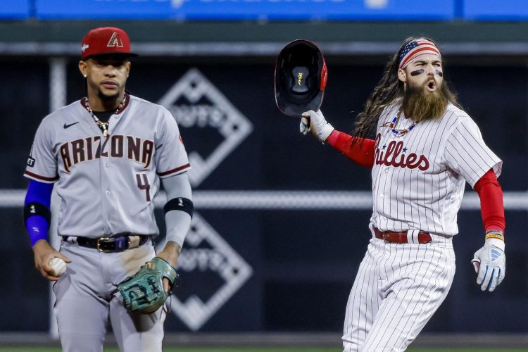
[[[109,122],[106,138],[75,101],[46,116],[35,134],[24,175],[56,182],[61,236],[156,236],[159,178],[190,168],[176,121],[163,106],[130,96]]]

